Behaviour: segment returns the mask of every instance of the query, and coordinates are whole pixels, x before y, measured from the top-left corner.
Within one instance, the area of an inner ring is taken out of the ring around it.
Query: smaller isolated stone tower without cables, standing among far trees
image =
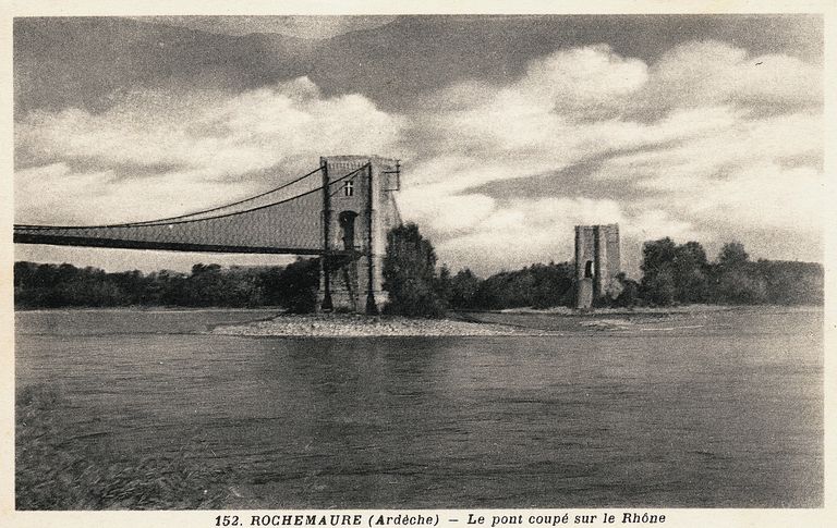
[[[618,287],[619,225],[575,226],[575,307],[590,308]]]

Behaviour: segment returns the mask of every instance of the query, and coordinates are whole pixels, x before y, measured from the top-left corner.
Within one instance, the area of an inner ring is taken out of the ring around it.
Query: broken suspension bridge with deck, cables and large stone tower
[[[401,222],[400,164],[377,156],[320,158],[319,167],[231,204],[138,222],[15,224],[17,244],[320,256],[320,300],[376,312],[386,232]]]

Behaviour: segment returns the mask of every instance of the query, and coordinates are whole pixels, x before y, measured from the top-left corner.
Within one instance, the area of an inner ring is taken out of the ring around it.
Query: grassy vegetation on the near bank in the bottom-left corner
[[[228,498],[210,470],[181,455],[141,458],[85,441],[70,422],[71,403],[49,385],[16,394],[17,509],[218,508]],[[87,434],[89,437],[89,434]],[[89,440],[89,439],[88,439]]]

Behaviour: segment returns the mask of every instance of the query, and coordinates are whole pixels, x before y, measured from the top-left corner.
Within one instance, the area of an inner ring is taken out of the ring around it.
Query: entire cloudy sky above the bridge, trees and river
[[[15,222],[180,214],[377,154],[453,270],[571,260],[574,225],[614,222],[633,277],[664,236],[822,261],[822,41],[815,15],[16,19]]]

